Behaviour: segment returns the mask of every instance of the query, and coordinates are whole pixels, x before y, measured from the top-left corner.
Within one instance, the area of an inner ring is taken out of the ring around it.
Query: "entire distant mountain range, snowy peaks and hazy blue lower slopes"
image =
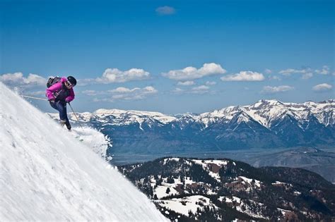
[[[112,138],[109,153],[142,155],[335,147],[334,113],[335,100],[302,104],[260,100],[200,114],[99,109],[78,117]],[[76,120],[73,114],[71,119]]]

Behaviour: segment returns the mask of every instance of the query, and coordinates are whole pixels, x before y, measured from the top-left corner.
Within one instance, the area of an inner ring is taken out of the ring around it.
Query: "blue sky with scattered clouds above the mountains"
[[[0,80],[44,97],[50,75],[74,75],[78,111],[334,99],[334,1],[0,4]]]

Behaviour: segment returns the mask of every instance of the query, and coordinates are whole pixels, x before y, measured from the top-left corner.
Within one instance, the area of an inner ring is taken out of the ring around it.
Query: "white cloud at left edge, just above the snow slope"
[[[29,85],[46,85],[47,80],[40,75],[30,73],[28,78],[23,73],[6,73],[0,75],[0,81],[8,85],[29,86]]]

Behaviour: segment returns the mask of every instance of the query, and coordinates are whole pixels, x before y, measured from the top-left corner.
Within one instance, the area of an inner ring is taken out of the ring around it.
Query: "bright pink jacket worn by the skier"
[[[60,82],[57,82],[51,87],[47,88],[47,93],[46,93],[47,99],[52,100],[52,99],[56,99],[57,97],[63,96],[65,97],[64,99],[66,102],[70,102],[74,100],[74,89],[73,88],[71,88],[70,90],[64,89],[63,83],[66,81],[67,79],[65,77],[62,77]]]

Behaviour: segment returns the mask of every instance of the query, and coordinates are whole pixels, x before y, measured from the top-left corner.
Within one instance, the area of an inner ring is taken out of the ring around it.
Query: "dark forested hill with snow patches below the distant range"
[[[328,221],[335,186],[299,168],[160,158],[119,166],[171,221]]]

